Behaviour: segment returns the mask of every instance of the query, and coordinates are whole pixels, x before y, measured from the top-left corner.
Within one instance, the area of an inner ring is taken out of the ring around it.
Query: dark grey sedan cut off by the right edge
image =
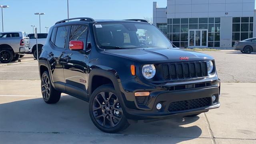
[[[248,38],[246,40],[236,41],[234,50],[240,50],[245,54],[256,52],[256,38]]]

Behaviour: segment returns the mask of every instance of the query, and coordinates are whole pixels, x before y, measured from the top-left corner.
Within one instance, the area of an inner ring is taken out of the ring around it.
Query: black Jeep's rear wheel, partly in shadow
[[[60,100],[61,92],[53,88],[50,75],[47,71],[42,74],[41,91],[44,102],[47,104],[54,104]]]

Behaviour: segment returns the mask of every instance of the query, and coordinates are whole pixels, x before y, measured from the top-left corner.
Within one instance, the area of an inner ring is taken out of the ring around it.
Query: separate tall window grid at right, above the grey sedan
[[[235,41],[253,37],[253,17],[232,18],[232,47]]]

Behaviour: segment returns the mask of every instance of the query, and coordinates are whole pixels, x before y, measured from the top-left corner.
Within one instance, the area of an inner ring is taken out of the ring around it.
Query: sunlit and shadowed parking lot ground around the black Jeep
[[[232,50],[214,56],[222,81],[221,107],[194,118],[138,122],[118,134],[98,130],[88,103],[62,95],[46,104],[33,58],[0,64],[0,143],[252,143],[256,144],[256,54]]]

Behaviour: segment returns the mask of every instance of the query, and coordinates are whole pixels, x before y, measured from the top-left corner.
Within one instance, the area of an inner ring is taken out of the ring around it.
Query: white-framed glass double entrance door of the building
[[[189,44],[190,48],[208,47],[207,30],[189,30]]]

